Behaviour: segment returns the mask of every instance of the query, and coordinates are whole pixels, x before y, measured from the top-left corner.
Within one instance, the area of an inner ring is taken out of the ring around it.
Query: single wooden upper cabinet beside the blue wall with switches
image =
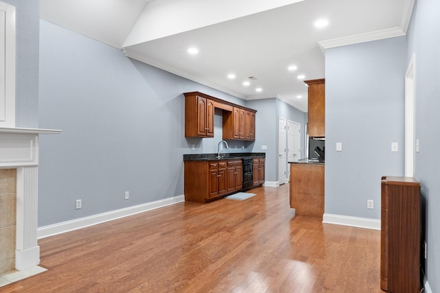
[[[325,79],[304,82],[309,86],[309,137],[325,137]]]

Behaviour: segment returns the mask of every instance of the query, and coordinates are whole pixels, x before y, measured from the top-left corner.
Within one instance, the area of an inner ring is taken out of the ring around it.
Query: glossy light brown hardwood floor
[[[41,239],[47,272],[1,292],[382,292],[380,231],[294,216],[289,185]]]

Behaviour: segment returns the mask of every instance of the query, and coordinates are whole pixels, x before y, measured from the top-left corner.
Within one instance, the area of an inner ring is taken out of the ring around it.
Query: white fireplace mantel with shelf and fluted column
[[[0,128],[0,168],[17,169],[17,232],[15,268],[40,263],[37,245],[39,135],[61,130]]]

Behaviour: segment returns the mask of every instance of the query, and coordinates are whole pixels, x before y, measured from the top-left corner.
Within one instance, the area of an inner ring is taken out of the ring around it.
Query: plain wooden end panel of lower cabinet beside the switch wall
[[[296,215],[324,215],[324,165],[290,164],[290,207]]]

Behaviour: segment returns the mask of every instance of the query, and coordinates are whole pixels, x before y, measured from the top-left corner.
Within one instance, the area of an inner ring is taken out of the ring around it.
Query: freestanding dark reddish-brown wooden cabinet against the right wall
[[[380,287],[420,290],[420,184],[411,177],[382,177]]]

